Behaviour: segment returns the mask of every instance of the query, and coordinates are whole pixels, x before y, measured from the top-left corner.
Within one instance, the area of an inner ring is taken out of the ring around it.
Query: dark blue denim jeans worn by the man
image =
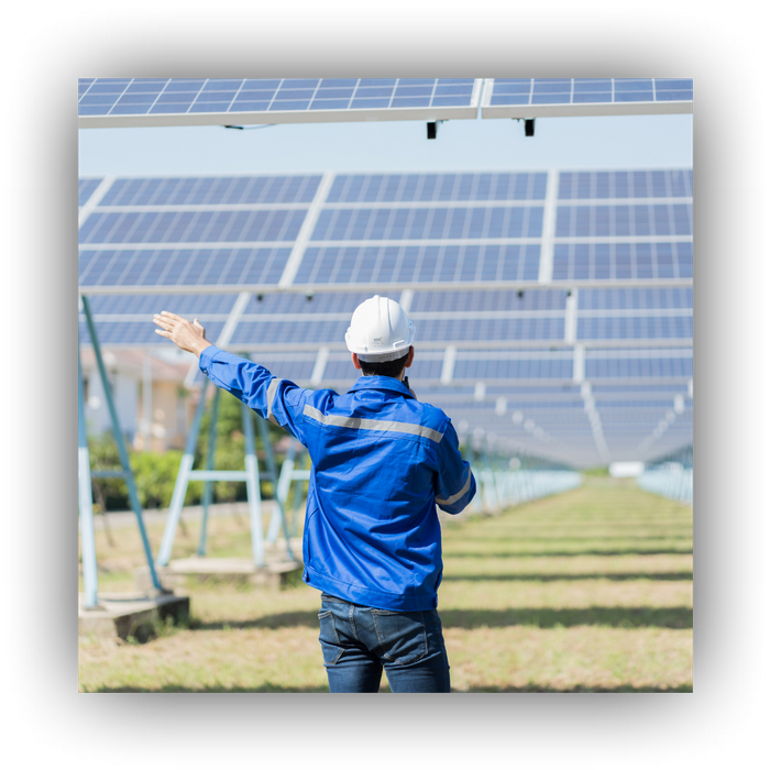
[[[323,666],[333,693],[448,693],[449,660],[436,609],[396,613],[321,594]]]

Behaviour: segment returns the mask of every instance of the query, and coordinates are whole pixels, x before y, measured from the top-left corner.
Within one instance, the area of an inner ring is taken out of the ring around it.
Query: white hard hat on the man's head
[[[375,295],[361,302],[345,332],[345,344],[361,361],[395,361],[409,350],[415,326],[393,299]]]

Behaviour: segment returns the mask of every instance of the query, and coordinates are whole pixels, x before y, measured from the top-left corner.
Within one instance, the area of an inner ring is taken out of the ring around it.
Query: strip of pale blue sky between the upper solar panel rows
[[[457,120],[426,139],[422,121],[78,130],[78,175],[319,170],[681,168],[693,165],[693,116]]]

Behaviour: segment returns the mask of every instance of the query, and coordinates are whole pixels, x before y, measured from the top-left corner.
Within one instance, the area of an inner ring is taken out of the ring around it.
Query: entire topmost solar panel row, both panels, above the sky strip
[[[482,100],[482,91],[484,94]],[[78,78],[78,128],[693,111],[692,78]]]

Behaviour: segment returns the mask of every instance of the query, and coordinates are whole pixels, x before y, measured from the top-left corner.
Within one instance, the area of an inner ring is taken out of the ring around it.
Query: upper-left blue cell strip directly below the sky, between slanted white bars
[[[320,175],[116,179],[100,206],[309,204],[320,180]]]

